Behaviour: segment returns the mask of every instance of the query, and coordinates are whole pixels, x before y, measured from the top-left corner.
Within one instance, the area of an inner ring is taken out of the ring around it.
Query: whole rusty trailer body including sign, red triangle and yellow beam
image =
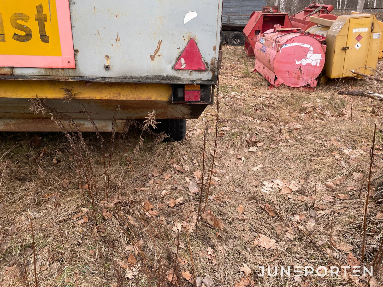
[[[115,104],[118,119],[198,117],[218,77],[221,11],[222,0],[0,0],[0,130],[56,130],[28,111],[35,96],[86,119],[60,88],[97,120]]]

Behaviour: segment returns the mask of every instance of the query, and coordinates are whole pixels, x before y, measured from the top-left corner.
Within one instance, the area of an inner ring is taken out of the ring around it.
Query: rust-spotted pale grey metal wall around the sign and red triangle
[[[56,0],[60,1],[67,0]],[[6,0],[0,0],[2,2]],[[44,13],[51,13],[49,0],[28,2],[43,3],[46,8]],[[76,68],[15,67],[8,69],[11,75],[3,75],[2,78],[215,83],[217,69],[214,63],[218,61],[219,53],[221,1],[70,0],[69,3]],[[34,4],[29,6],[35,7]],[[22,7],[15,8],[18,13],[24,13],[23,10]],[[195,11],[197,16],[184,23],[190,11]],[[31,17],[28,22],[34,20],[34,15],[31,12],[28,14]],[[3,21],[6,21],[4,17]],[[47,24],[50,23],[47,21]],[[11,33],[17,32],[13,30]],[[32,31],[35,32],[34,29]],[[190,38],[195,39],[204,62],[207,62],[206,71],[190,73],[173,69]],[[110,65],[110,69],[105,69],[105,65]]]

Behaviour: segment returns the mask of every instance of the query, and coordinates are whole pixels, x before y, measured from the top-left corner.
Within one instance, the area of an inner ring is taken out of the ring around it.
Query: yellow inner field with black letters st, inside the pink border
[[[56,0],[0,0],[0,55],[61,56]]]

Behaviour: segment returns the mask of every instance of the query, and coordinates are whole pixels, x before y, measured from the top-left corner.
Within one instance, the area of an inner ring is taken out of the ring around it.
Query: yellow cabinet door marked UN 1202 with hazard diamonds
[[[358,69],[357,71],[360,73],[365,72],[373,19],[373,17],[350,19],[346,44],[350,49],[346,50],[343,70],[344,75],[352,75],[350,70]],[[359,41],[357,39],[358,36],[362,38],[358,38]],[[376,57],[377,56],[378,55],[376,55]]]

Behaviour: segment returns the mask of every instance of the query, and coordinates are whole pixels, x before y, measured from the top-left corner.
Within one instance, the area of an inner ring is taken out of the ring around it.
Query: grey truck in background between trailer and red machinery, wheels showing
[[[253,11],[262,11],[266,0],[223,0],[221,43],[231,46],[243,46],[242,33]]]

